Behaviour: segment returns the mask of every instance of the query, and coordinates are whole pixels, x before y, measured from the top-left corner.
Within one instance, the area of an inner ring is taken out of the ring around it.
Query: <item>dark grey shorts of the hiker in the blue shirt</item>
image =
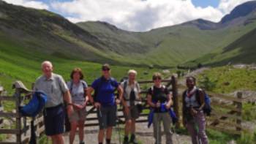
[[[116,126],[116,105],[102,106],[97,110],[99,129]]]

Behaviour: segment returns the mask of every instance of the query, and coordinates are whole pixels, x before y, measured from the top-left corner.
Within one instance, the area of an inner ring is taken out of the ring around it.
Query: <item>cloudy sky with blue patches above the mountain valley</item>
[[[127,31],[148,31],[203,18],[219,22],[249,0],[4,0],[56,12],[72,23],[105,21]]]

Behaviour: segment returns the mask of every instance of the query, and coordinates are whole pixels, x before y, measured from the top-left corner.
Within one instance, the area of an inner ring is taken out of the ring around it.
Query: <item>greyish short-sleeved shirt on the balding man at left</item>
[[[63,94],[68,91],[68,88],[61,75],[53,73],[49,79],[45,75],[38,77],[34,83],[34,91],[47,94],[45,107],[55,107],[63,103]]]

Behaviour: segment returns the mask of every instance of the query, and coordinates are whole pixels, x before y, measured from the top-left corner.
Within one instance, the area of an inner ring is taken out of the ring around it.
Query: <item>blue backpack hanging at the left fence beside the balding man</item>
[[[20,107],[20,113],[23,116],[35,117],[45,107],[47,95],[42,91],[35,91],[29,103]]]

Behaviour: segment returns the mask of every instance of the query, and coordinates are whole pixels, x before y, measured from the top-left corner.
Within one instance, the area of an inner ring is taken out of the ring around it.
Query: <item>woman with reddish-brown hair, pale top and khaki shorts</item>
[[[69,121],[71,123],[69,143],[72,144],[74,142],[76,129],[79,128],[80,144],[83,144],[83,128],[86,121],[86,103],[89,100],[86,96],[86,88],[88,86],[87,83],[83,81],[83,73],[80,68],[73,69],[70,78],[72,80],[67,83],[67,86],[72,96],[74,112],[69,116]]]

